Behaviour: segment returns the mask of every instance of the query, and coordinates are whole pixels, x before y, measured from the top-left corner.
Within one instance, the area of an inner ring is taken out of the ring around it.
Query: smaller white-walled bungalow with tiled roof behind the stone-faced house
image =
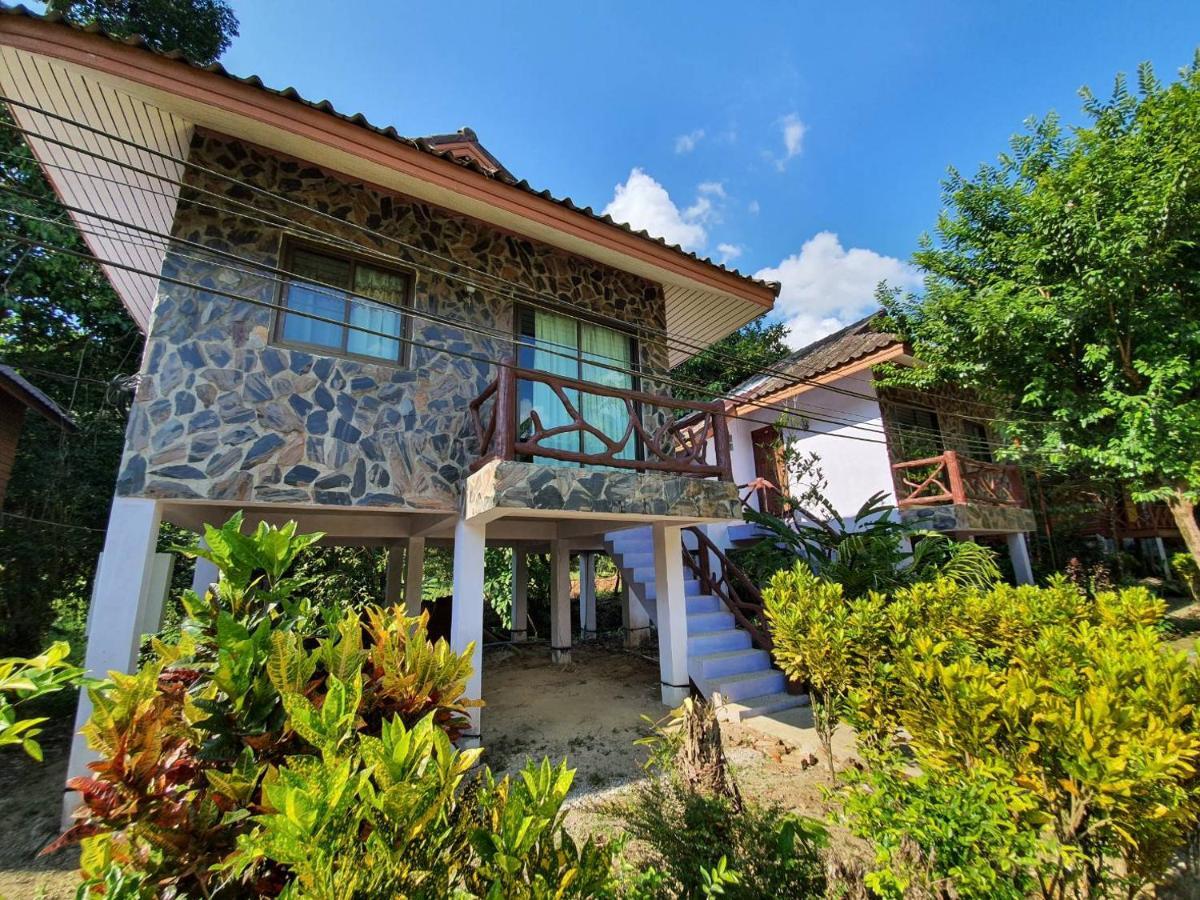
[[[1034,520],[1019,469],[995,458],[989,408],[950,391],[878,384],[882,362],[911,365],[904,342],[866,317],[733,388],[733,478],[786,491],[784,446],[816,454],[842,517],[882,492],[905,521],[958,539],[1003,538],[1019,582],[1033,581],[1026,533]],[[779,492],[749,502],[773,510]]]

